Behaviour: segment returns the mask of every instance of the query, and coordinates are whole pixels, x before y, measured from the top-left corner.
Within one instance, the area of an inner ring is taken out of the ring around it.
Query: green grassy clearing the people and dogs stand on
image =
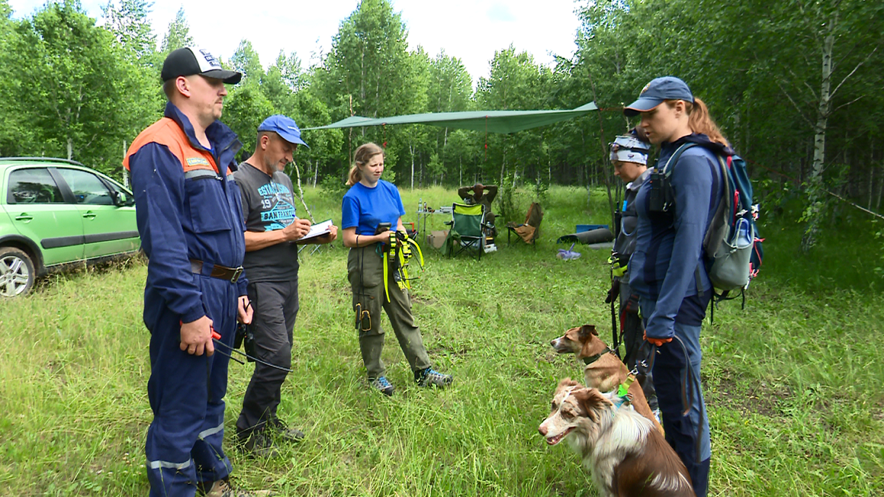
[[[337,200],[306,193],[317,221],[339,221]],[[438,206],[454,196],[403,192],[408,212],[418,198]],[[414,385],[392,334],[385,362],[396,394],[370,391],[351,325],[347,250],[305,251],[295,372],[279,410],[307,439],[271,460],[232,446],[251,373],[232,363],[226,427],[236,483],[278,495],[595,495],[567,444],[546,447],[537,434],[559,379],[582,377],[549,340],[584,323],[610,335],[608,251],[575,247],[580,259],[555,258],[560,234],[607,222],[605,197],[586,199],[585,189],[550,189],[537,249],[508,247],[505,233],[481,261],[424,248],[415,316],[431,360],[454,375],[445,391]],[[524,211],[530,198],[519,201]],[[443,220],[431,216],[431,228]],[[801,283],[812,263],[790,255],[794,236],[772,234],[794,228],[767,230],[769,263],[745,310],[723,303],[704,326],[710,494],[882,495],[882,295],[834,283],[836,270],[819,285]],[[145,274],[134,260],[56,276],[0,302],[0,495],[148,493]]]

